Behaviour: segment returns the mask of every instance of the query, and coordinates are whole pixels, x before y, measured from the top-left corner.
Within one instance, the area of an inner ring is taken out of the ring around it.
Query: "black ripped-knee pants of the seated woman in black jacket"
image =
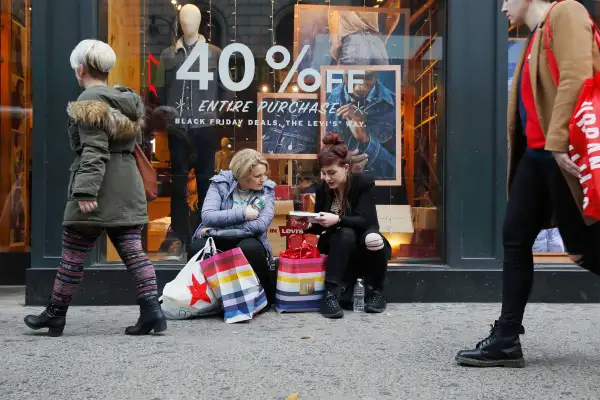
[[[325,274],[328,290],[337,294],[339,288],[353,285],[361,277],[365,284],[383,289],[391,248],[384,239],[383,249],[368,250],[365,238],[369,233],[381,235],[377,231],[367,231],[358,236],[352,228],[344,227],[320,236],[319,252],[328,255]]]

